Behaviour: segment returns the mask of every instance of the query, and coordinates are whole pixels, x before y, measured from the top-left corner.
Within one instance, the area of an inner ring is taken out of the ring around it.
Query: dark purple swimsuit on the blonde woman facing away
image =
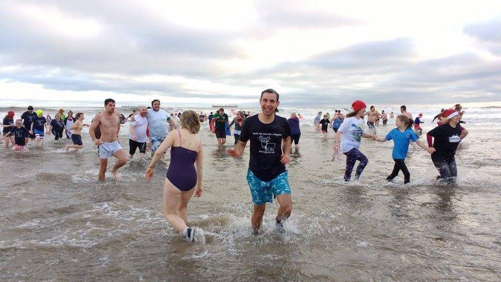
[[[167,179],[181,191],[190,191],[197,184],[195,161],[198,152],[181,147],[181,131],[178,129],[179,146],[170,148],[170,164]],[[199,146],[199,150],[201,145]]]

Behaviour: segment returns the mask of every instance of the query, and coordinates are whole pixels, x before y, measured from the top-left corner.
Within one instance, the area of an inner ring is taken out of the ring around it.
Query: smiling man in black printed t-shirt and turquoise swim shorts
[[[251,217],[254,234],[258,234],[266,208],[273,197],[279,203],[277,226],[282,229],[282,220],[292,211],[291,189],[285,164],[290,161],[291,128],[285,118],[275,115],[279,95],[273,89],[261,93],[259,103],[262,112],[245,119],[239,141],[228,154],[242,156],[247,141],[251,140],[251,158],[247,182],[251,189],[254,212]]]

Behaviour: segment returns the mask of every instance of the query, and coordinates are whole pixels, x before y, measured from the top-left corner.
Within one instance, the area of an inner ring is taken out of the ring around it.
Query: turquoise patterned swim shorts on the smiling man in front
[[[251,170],[248,170],[247,182],[251,189],[252,201],[257,205],[273,202],[273,196],[291,194],[288,173],[286,171],[271,181],[262,181]]]

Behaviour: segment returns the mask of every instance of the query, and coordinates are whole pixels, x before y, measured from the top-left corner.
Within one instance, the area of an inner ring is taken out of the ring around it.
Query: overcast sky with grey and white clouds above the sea
[[[284,106],[501,105],[501,1],[0,1],[0,106],[266,88]]]

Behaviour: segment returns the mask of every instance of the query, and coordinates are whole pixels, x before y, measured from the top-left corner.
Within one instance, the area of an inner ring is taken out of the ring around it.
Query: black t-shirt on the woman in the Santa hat
[[[457,145],[461,141],[459,136],[461,135],[461,126],[459,124],[456,127],[452,127],[448,123],[439,125],[432,130],[428,131],[428,135],[435,138],[433,141],[433,147],[435,148],[435,153],[446,158],[454,157]]]

